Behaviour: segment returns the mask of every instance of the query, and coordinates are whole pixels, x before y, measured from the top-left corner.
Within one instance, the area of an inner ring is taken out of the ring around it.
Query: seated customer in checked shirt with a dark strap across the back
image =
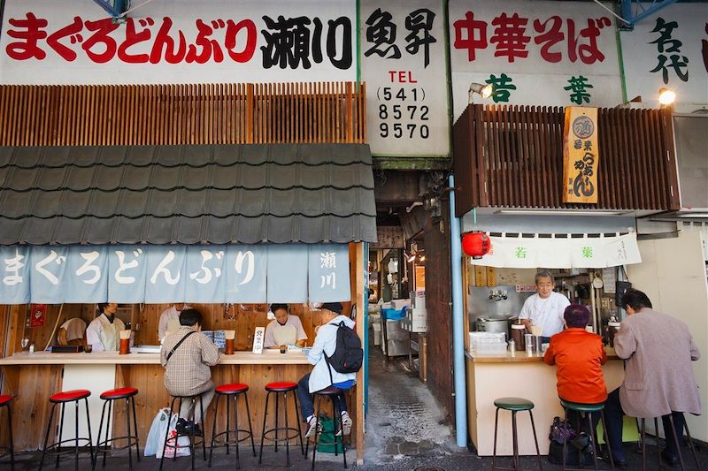
[[[191,401],[183,400],[178,433],[189,433],[194,428],[198,437],[203,437],[199,428],[204,413],[214,397],[212,367],[219,362],[219,348],[201,332],[202,315],[196,309],[184,309],[180,313],[181,327],[165,337],[160,350],[160,364],[165,367],[165,388],[171,396],[195,396],[202,394],[202,407],[195,406],[194,421],[188,421]],[[179,344],[179,345],[178,345]]]

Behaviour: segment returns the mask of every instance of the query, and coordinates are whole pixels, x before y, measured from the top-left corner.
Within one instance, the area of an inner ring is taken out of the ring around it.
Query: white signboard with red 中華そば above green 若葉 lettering
[[[450,0],[450,66],[456,119],[471,83],[495,87],[475,103],[622,103],[614,19],[592,2]]]

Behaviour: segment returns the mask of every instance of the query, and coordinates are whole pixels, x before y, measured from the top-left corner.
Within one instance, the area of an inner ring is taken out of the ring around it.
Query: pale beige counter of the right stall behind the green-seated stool
[[[612,349],[605,349],[603,365],[607,391],[617,388],[624,378],[624,364]],[[466,353],[467,426],[479,456],[491,456],[494,447],[494,400],[518,397],[534,403],[534,421],[541,454],[548,453],[548,430],[553,417],[564,412],[556,389],[556,367],[543,362],[543,354],[526,352]],[[534,436],[526,412],[517,415],[519,454],[535,455]],[[512,455],[511,413],[499,412],[497,454]]]

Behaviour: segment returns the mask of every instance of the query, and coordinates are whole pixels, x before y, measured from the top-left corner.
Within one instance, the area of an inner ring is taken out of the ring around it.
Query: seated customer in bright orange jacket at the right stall
[[[607,353],[604,352],[603,339],[585,330],[589,320],[588,308],[580,304],[568,306],[563,313],[566,330],[550,338],[543,361],[556,365],[560,399],[581,404],[599,404],[607,399],[602,368],[607,361]],[[579,422],[576,414],[570,414],[568,420],[573,426]],[[600,414],[594,414],[593,426],[599,420]],[[582,425],[583,430],[587,429],[584,423]]]

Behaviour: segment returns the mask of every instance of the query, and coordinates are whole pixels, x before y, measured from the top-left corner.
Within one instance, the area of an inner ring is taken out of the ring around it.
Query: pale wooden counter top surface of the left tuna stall
[[[15,353],[0,359],[0,366],[17,365],[159,365],[159,353]],[[263,353],[235,352],[221,354],[219,365],[305,365],[307,357],[302,352],[280,353],[278,350]]]

